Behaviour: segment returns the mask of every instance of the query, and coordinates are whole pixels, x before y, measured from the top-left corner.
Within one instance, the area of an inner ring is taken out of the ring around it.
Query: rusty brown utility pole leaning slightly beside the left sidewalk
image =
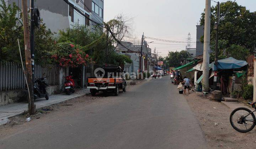
[[[32,72],[32,61],[31,56],[34,57],[34,54],[32,53],[30,47],[31,45],[34,45],[33,43],[30,43],[30,37],[33,37],[33,35],[29,35],[29,25],[28,25],[28,13],[27,13],[27,0],[22,0],[22,19],[23,19],[23,30],[24,30],[24,44],[25,44],[25,58],[26,58],[26,77],[27,77],[27,85],[29,89],[29,95],[28,95],[28,111],[30,115],[33,115],[35,112],[35,106],[34,105],[34,94],[33,94],[33,72]],[[32,20],[32,19],[31,19]],[[33,25],[31,25],[33,26]],[[32,32],[31,32],[32,34]],[[32,40],[33,42],[33,40]]]

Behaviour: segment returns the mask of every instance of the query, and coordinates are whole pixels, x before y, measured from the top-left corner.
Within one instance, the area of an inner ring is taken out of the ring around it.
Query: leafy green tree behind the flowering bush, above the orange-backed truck
[[[89,57],[96,64],[102,65],[106,61],[107,35],[101,29],[91,32],[85,26],[68,28],[66,31],[59,31],[58,43],[78,43],[81,50],[89,54]],[[114,50],[113,40],[108,42],[108,64],[124,65],[125,62],[132,62],[128,56],[119,55]]]

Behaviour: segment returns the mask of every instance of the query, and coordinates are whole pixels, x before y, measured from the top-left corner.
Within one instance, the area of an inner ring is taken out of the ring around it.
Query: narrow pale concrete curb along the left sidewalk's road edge
[[[89,95],[89,94],[90,94],[90,92],[89,93],[84,93],[82,95],[78,95],[78,96],[70,98],[70,99],[66,99],[66,100],[62,100],[62,101],[57,101],[56,103],[50,103],[50,104],[46,104],[46,105],[43,105],[43,106],[39,106],[39,107],[36,107],[36,110],[41,109],[43,107],[50,106],[50,105],[55,105],[55,104],[63,103],[64,101],[72,100],[72,99],[75,99],[75,98],[78,98],[78,97],[81,97],[81,96],[84,96],[84,95]],[[6,117],[2,118],[0,120],[0,126],[1,125],[5,125],[6,123],[10,122],[9,118],[15,117],[15,116],[20,115],[20,114],[23,114],[25,111],[17,112],[15,114],[12,114],[12,115],[9,115],[9,116],[6,116]]]

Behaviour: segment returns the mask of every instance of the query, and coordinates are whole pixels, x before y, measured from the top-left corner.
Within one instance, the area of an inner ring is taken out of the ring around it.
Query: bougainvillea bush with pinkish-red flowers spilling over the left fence
[[[56,43],[52,51],[52,58],[62,67],[80,67],[91,63],[89,55],[81,47],[69,42]]]

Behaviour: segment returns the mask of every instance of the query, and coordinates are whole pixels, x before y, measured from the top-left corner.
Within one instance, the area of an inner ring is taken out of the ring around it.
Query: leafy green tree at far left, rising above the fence
[[[16,17],[17,11],[15,3],[11,6],[6,5],[5,0],[0,1],[0,60],[20,62],[17,39],[22,43],[23,28]]]

